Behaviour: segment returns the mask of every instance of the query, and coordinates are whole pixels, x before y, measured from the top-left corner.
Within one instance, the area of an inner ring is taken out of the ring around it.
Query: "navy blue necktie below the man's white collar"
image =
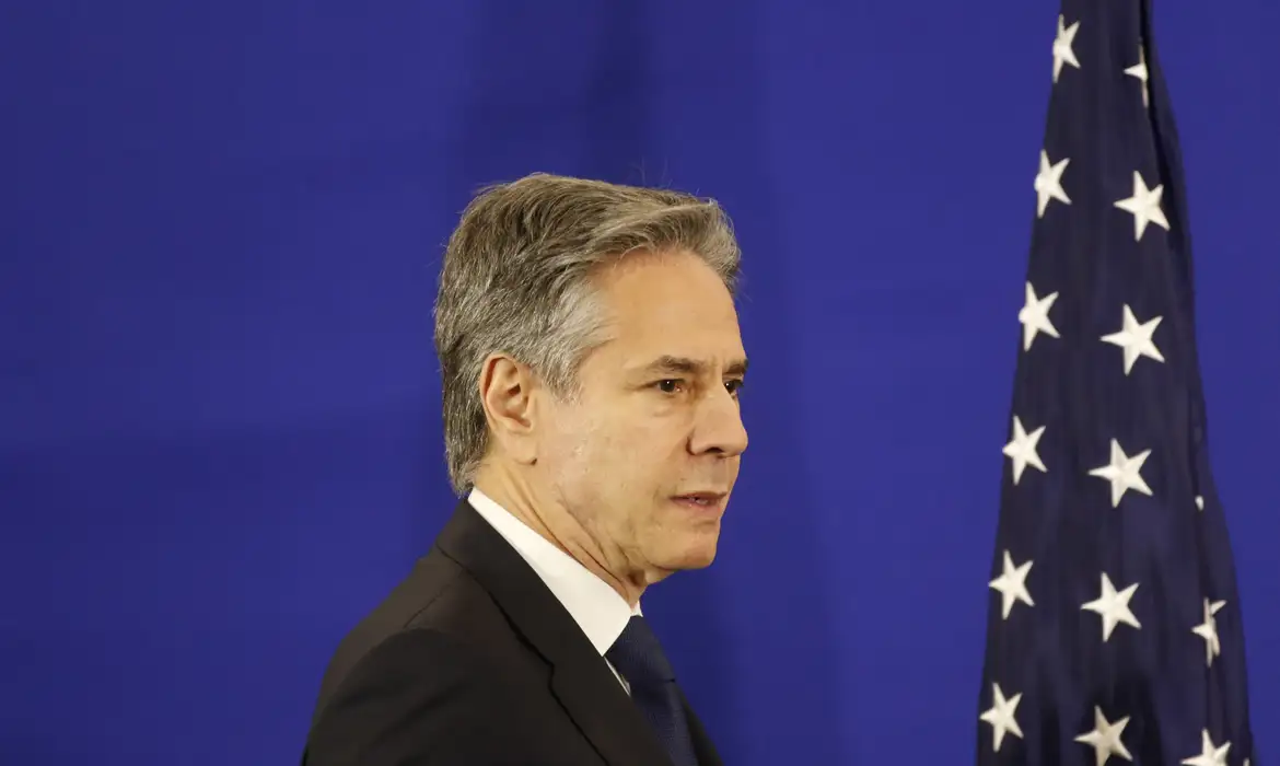
[[[689,719],[676,687],[676,672],[658,637],[640,615],[634,615],[604,657],[631,687],[631,699],[653,726],[675,766],[698,766]]]

